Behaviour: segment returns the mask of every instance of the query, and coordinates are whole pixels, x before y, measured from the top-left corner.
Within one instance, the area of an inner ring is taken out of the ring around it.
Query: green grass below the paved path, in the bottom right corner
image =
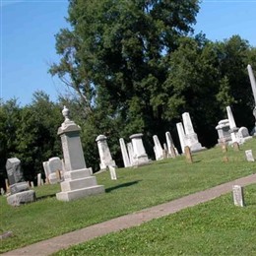
[[[256,185],[245,191],[245,208],[229,193],[54,255],[256,255]]]

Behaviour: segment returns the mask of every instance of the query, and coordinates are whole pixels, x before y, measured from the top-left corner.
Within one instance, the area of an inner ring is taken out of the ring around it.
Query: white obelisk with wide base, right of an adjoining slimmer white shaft
[[[198,152],[205,150],[205,147],[202,147],[201,143],[198,141],[197,134],[194,131],[191,118],[188,112],[182,114],[182,120],[185,130],[185,146],[188,146],[191,152]]]

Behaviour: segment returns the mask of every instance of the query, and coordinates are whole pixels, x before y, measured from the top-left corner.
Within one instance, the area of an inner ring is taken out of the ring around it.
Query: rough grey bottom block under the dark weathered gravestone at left
[[[7,197],[7,203],[11,206],[20,206],[20,205],[32,203],[35,200],[36,200],[35,192],[33,190],[19,192]]]

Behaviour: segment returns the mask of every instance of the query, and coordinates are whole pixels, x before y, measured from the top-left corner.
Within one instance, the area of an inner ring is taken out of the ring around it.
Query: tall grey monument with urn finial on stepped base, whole
[[[65,118],[58,135],[61,137],[62,151],[65,161],[64,181],[61,192],[56,194],[60,201],[71,201],[78,198],[103,193],[104,187],[97,185],[96,177],[91,175],[84,159],[80,139],[80,126],[69,119],[69,110],[64,106],[62,114]]]

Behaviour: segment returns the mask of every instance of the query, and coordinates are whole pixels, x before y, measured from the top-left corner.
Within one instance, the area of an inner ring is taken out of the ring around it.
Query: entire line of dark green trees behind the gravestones
[[[163,142],[175,124],[190,113],[203,146],[217,142],[216,125],[230,105],[237,126],[252,129],[254,117],[247,65],[256,68],[256,48],[239,35],[211,41],[193,33],[199,1],[71,0],[69,29],[56,34],[60,61],[49,73],[71,88],[75,97],[51,102],[42,92],[20,107],[15,99],[0,108],[0,171],[7,158],[23,162],[33,179],[42,161],[60,156],[56,131],[65,103],[82,126],[89,166],[98,168],[96,136],[108,137],[113,159],[122,165],[119,138],[142,132],[151,158],[153,135]]]

